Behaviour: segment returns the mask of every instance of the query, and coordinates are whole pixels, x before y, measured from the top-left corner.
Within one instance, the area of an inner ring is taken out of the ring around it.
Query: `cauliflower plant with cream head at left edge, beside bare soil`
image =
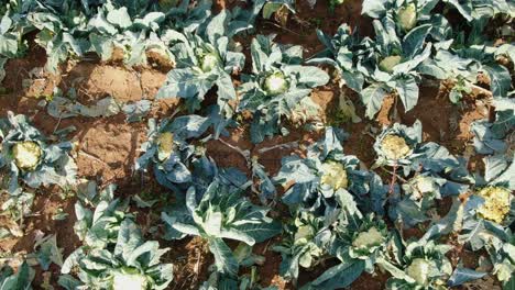
[[[48,145],[47,138],[33,127],[25,115],[8,113],[0,120],[0,167],[10,172],[8,191],[19,189],[21,178],[31,188],[41,185],[73,186],[77,181],[77,166],[69,156],[69,142]]]

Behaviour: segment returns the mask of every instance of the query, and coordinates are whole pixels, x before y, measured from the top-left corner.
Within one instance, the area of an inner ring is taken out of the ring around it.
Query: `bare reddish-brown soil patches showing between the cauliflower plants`
[[[222,7],[233,7],[238,1],[218,0],[217,9]],[[316,27],[322,29],[326,33],[332,34],[337,27],[343,23],[349,23],[353,29],[360,27],[360,34],[370,35],[372,33],[369,19],[361,16],[361,1],[352,0],[339,7],[335,13],[327,12],[327,1],[318,1],[314,10],[309,9],[305,1],[297,1],[298,12],[291,15],[285,27],[277,26],[271,21],[259,21],[258,32],[267,34],[277,33],[277,42],[287,44],[302,44],[305,47],[306,56],[313,55],[321,48],[315,33]],[[249,44],[250,38],[241,40],[243,44]],[[248,47],[245,53],[248,53]],[[150,56],[150,58],[152,58]],[[152,60],[152,59],[151,59]],[[249,60],[249,59],[248,59]],[[79,176],[95,179],[101,185],[116,182],[120,185],[117,194],[132,196],[144,190],[151,190],[155,194],[166,194],[164,190],[155,185],[150,176],[134,176],[134,159],[140,155],[139,148],[145,141],[146,123],[125,123],[122,114],[111,118],[88,119],[73,118],[57,122],[46,114],[36,104],[41,97],[51,96],[54,88],[58,87],[65,92],[69,88],[76,88],[81,102],[92,103],[107,96],[112,96],[117,101],[130,102],[141,99],[153,99],[158,88],[166,79],[166,65],[154,59],[154,68],[130,69],[120,65],[120,62],[109,62],[106,64],[97,62],[70,62],[65,67],[63,76],[52,76],[48,74],[34,74],[34,68],[41,68],[45,64],[45,53],[41,48],[34,47],[23,59],[12,59],[8,62],[6,80],[2,86],[7,88],[8,94],[0,96],[0,116],[6,116],[7,111],[28,114],[34,124],[45,134],[52,134],[56,129],[64,129],[69,125],[77,127],[69,137],[78,144],[76,160],[79,167]],[[37,70],[37,69],[36,69]],[[33,74],[31,74],[31,71]],[[39,71],[35,71],[39,72]],[[24,79],[32,79],[28,82]],[[25,82],[25,83],[24,83]],[[28,86],[29,83],[29,86]],[[338,91],[336,85],[331,83],[317,90],[313,99],[324,109],[322,119],[332,124],[332,109],[338,102]],[[419,102],[416,108],[407,113],[402,104],[396,105],[397,115],[393,115],[395,100],[388,97],[379,113],[376,120],[369,121],[364,118],[363,107],[355,96],[351,96],[357,107],[357,113],[363,122],[358,124],[340,124],[350,137],[344,142],[347,154],[358,156],[365,166],[370,167],[375,158],[371,150],[374,143],[371,130],[380,130],[382,125],[401,121],[412,124],[416,119],[420,120],[424,126],[425,141],[435,141],[446,145],[452,153],[461,153],[470,143],[470,124],[478,119],[487,116],[489,108],[484,96],[474,96],[465,99],[460,105],[449,102],[448,89],[442,86],[423,87]],[[176,108],[178,101],[156,102],[151,115],[167,116]],[[319,132],[304,132],[292,130],[288,136],[276,136],[266,140],[262,144],[254,146],[249,138],[248,125],[231,130],[230,136],[223,137],[226,143],[238,146],[241,149],[250,150],[252,156],[258,156],[260,164],[264,165],[271,176],[275,175],[281,167],[281,158],[292,153],[303,154],[303,146],[299,148],[270,149],[260,153],[260,149],[277,144],[298,142],[306,145],[316,141]],[[207,153],[220,167],[237,167],[249,174],[245,159],[235,150],[219,141],[210,141],[206,145]],[[480,166],[481,156],[473,159],[474,168]],[[139,186],[135,186],[139,181]],[[64,248],[64,256],[69,255],[79,245],[73,231],[76,221],[74,212],[74,199],[61,199],[59,190],[44,189],[37,193],[33,212],[37,216],[29,217],[25,221],[25,235],[18,239],[7,239],[0,242],[1,252],[32,252],[36,231],[45,234],[57,233],[58,246]],[[63,208],[69,214],[65,221],[53,221],[52,215],[58,208]],[[277,213],[278,212],[278,213]],[[277,208],[274,213],[283,214],[287,211]],[[141,212],[140,215],[147,213]],[[140,219],[140,216],[139,216]],[[141,217],[144,219],[144,217]],[[149,217],[147,221],[154,221]],[[149,222],[150,223],[150,222]],[[0,220],[0,226],[6,224],[6,220]],[[420,232],[406,233],[408,236],[419,236]],[[277,286],[280,289],[295,289],[291,283],[284,281],[278,276],[281,256],[270,250],[270,246],[277,239],[259,244],[254,253],[264,255],[266,263],[259,267],[262,286]],[[174,282],[169,289],[196,289],[198,285],[209,276],[208,267],[212,264],[212,256],[207,250],[207,246],[199,238],[189,238],[178,242],[161,242],[162,247],[169,247],[165,261],[173,263]],[[469,257],[465,257],[470,260]],[[309,279],[315,279],[327,267],[325,265],[314,272],[303,271],[299,285]],[[52,280],[58,277],[58,269],[52,274]],[[36,281],[42,281],[39,275]],[[387,275],[376,276],[363,275],[352,286],[351,289],[383,289]]]

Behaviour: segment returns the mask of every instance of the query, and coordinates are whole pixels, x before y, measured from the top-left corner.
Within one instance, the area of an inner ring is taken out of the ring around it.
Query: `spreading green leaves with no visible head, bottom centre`
[[[235,180],[240,186],[233,183]],[[205,192],[189,188],[179,209],[162,213],[166,237],[202,237],[215,256],[217,270],[235,276],[239,263],[224,239],[253,246],[281,233],[281,224],[266,216],[269,209],[256,207],[242,197],[244,183],[241,172],[230,172],[216,178]]]

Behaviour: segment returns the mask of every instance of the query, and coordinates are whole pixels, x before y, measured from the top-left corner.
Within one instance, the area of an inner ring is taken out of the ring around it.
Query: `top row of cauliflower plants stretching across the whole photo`
[[[202,114],[218,116],[216,136],[232,116],[250,111],[254,116],[252,141],[259,143],[265,136],[287,134],[278,123],[284,118],[296,123],[297,111],[304,111],[304,119],[314,118],[317,105],[306,97],[314,87],[326,85],[329,76],[316,67],[302,67],[303,48],[274,44],[272,36],[252,40],[252,68],[245,68],[242,44],[234,37],[248,37],[255,31],[260,11],[265,16],[284,7],[295,11],[293,1],[260,0],[246,7],[249,10],[237,7],[213,15],[208,0],[10,1],[3,8],[0,64],[23,55],[28,49],[24,36],[34,30],[40,31],[35,42],[46,49],[47,69],[53,72],[58,72],[59,63],[87,53],[108,60],[121,49],[128,66],[145,65],[149,55],[157,54],[173,68],[157,99],[178,97],[189,112],[201,109]],[[449,11],[464,23],[452,25]],[[452,83],[449,97],[453,102],[473,90],[485,91],[476,85],[479,76],[490,80],[493,97],[506,97],[512,86],[509,23],[514,11],[513,3],[504,0],[364,1],[362,14],[372,19],[374,36],[363,37],[347,24],[332,37],[318,31],[327,48],[307,63],[335,67],[340,86],[361,97],[369,119],[388,94],[405,111],[412,110],[418,102],[419,86],[431,79]],[[487,26],[491,21],[502,24],[492,29]],[[500,38],[507,41],[496,43]],[[240,86],[234,87],[234,78],[241,80]],[[200,108],[213,87],[217,104]]]

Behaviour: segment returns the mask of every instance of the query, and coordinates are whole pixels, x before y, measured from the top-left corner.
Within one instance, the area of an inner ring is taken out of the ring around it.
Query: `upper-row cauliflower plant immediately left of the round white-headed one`
[[[202,12],[210,14],[210,10]],[[223,9],[206,23],[198,22],[197,25],[201,26],[198,31],[188,31],[184,35],[171,33],[171,49],[176,55],[177,66],[168,72],[166,82],[156,94],[156,99],[184,99],[187,110],[193,113],[206,109],[201,103],[208,91],[216,88],[217,102],[208,109],[217,111],[212,120],[216,136],[234,113],[237,91],[232,75],[240,74],[245,64],[244,54],[238,52],[232,41],[234,34],[251,27],[246,19],[240,16],[243,15],[238,9],[233,12]]]

